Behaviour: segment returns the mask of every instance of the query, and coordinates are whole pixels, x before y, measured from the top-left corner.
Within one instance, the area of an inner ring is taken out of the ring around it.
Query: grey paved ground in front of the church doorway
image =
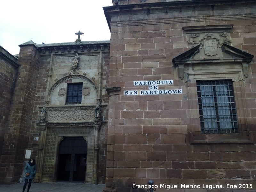
[[[105,185],[92,185],[83,182],[32,183],[29,192],[102,192],[104,187]],[[23,183],[0,185],[1,192],[22,192],[22,188]]]

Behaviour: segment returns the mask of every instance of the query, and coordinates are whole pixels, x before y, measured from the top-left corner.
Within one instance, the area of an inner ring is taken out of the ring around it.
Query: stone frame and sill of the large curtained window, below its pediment
[[[204,68],[204,65],[199,63],[194,64],[194,66],[196,65],[200,65],[201,68]],[[225,63],[222,63],[222,65],[225,65]],[[188,94],[188,105],[191,109],[188,112],[188,118],[191,120],[191,127],[188,129],[187,134],[189,143],[253,143],[253,133],[250,132],[246,124],[243,123],[246,119],[244,79],[242,78],[244,76],[243,69],[234,69],[233,71],[222,71],[221,69],[216,69],[209,71],[209,69],[186,70],[185,68],[184,73]],[[196,81],[229,79],[233,82],[239,133],[201,133]]]

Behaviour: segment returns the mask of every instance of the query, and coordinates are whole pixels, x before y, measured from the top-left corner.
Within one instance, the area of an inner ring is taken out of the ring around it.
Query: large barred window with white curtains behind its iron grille
[[[202,133],[238,133],[231,80],[196,81]]]

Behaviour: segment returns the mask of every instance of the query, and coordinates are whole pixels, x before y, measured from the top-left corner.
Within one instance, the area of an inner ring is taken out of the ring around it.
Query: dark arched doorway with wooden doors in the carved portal
[[[58,180],[84,181],[87,143],[83,137],[64,137],[59,146]]]

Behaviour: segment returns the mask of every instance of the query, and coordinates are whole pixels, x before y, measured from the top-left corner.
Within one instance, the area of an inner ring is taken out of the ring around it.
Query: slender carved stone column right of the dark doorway
[[[98,184],[98,157],[99,157],[99,131],[101,128],[102,121],[93,121],[94,125],[94,159],[93,159],[93,174],[92,174],[92,184]]]

